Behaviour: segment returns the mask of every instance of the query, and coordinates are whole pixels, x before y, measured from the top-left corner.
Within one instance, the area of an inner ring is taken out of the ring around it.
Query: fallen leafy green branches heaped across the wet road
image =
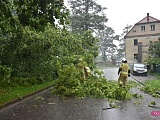
[[[108,98],[116,100],[131,99],[129,88],[119,88],[117,82],[107,81],[101,71],[94,71],[84,79],[81,71],[73,64],[63,66],[59,78],[55,81],[53,94],[72,97]]]

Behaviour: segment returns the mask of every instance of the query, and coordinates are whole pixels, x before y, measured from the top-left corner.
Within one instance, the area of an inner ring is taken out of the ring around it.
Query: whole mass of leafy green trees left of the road
[[[5,86],[55,79],[62,66],[80,58],[94,67],[98,48],[92,33],[73,35],[55,27],[56,20],[64,27],[68,22],[63,0],[4,0],[0,6],[0,61],[5,73],[1,82]]]

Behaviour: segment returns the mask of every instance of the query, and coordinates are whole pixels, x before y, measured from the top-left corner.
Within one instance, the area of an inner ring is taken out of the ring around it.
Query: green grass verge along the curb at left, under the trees
[[[3,106],[17,99],[22,99],[29,94],[35,93],[53,85],[53,83],[54,81],[47,81],[42,84],[36,84],[28,87],[0,88],[0,106]]]

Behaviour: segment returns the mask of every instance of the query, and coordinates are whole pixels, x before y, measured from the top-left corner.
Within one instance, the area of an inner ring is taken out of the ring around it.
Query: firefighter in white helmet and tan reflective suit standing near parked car
[[[125,58],[122,59],[122,64],[119,67],[118,75],[119,75],[119,78],[118,78],[119,86],[126,87],[127,86],[127,77],[130,77],[130,68],[129,68],[129,65],[127,64],[127,60]]]

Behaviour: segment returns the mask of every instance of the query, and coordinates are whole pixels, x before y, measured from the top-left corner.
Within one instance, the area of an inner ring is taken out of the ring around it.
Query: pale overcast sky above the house
[[[96,0],[98,4],[108,9],[105,11],[109,19],[107,26],[120,35],[123,28],[134,25],[149,13],[160,20],[160,0]]]

